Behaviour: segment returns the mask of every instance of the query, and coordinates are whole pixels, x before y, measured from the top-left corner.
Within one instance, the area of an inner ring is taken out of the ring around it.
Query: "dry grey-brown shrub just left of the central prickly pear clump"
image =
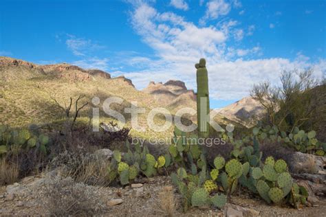
[[[54,157],[49,169],[58,168],[63,177],[72,177],[78,183],[87,185],[109,185],[108,161],[81,150],[65,151]]]

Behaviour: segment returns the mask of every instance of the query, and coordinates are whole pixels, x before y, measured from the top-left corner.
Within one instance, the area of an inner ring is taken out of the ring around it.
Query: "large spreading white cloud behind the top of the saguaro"
[[[134,69],[142,67],[124,73],[138,89],[146,87],[151,80],[170,79],[183,80],[188,88],[196,89],[194,64],[202,57],[207,60],[210,96],[215,100],[243,98],[253,84],[263,80],[276,84],[283,69],[314,67],[316,76],[321,76],[326,69],[326,60],[312,63],[302,53],[295,60],[260,58],[260,45],[243,48],[230,44],[232,38],[253,34],[254,25],[239,30],[237,21],[227,19],[215,26],[198,27],[177,14],[157,12],[146,3],[134,9],[133,28],[154,51],[152,57],[138,54],[127,60]],[[121,73],[115,71],[113,75]]]

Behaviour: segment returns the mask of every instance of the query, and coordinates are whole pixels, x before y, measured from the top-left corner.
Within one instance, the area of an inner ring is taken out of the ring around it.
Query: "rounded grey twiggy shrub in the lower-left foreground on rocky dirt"
[[[47,179],[43,196],[43,205],[51,216],[94,216],[105,209],[96,187],[75,183],[69,177]]]

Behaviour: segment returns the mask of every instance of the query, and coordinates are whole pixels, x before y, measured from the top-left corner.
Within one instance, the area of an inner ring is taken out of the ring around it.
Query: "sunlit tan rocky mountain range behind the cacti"
[[[113,120],[105,115],[102,103],[111,96],[118,96],[124,101],[122,104],[111,104],[111,109],[119,111],[126,118],[127,126],[130,126],[130,114],[124,109],[131,106],[131,102],[138,102],[138,106],[145,108],[145,113],[140,114],[138,122],[140,126],[147,126],[147,114],[155,107],[164,107],[175,114],[178,109],[189,107],[196,110],[196,94],[188,90],[184,82],[169,80],[166,83],[150,82],[149,86],[139,91],[135,89],[131,80],[118,76],[112,78],[106,71],[98,69],[82,69],[67,63],[52,65],[37,65],[32,62],[8,57],[0,57],[0,120],[2,124],[10,126],[23,126],[30,123],[36,124],[60,124],[65,113],[57,106],[69,104],[70,98],[76,100],[78,96],[85,95],[80,104],[88,102],[80,112],[79,120],[89,121],[92,108],[91,99],[94,96],[100,98],[100,121]],[[74,107],[74,106],[73,106]],[[227,106],[219,111],[215,120],[221,124],[243,124],[248,118],[254,117],[261,110],[257,103],[250,98],[245,98]],[[197,122],[196,115],[186,116],[193,122]],[[155,116],[155,123],[162,124],[165,121],[160,115]],[[169,132],[172,133],[171,127]],[[165,133],[151,131],[146,132],[131,130],[136,136],[159,137]]]

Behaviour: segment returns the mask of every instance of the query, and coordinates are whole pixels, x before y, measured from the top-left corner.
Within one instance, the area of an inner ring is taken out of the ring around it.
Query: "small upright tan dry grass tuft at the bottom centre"
[[[157,212],[160,212],[162,216],[175,216],[177,208],[177,201],[173,194],[172,186],[165,186],[158,195],[157,200]]]

